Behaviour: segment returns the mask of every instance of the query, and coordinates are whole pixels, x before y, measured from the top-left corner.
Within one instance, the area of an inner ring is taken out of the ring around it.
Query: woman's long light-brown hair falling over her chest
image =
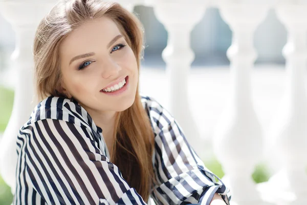
[[[139,19],[117,3],[99,0],[60,1],[43,18],[34,39],[34,70],[39,100],[53,95],[66,97],[57,91],[61,80],[59,46],[62,40],[86,20],[108,17],[114,21],[133,50],[140,71],[143,57],[143,27]],[[140,73],[140,72],[139,72]],[[138,85],[139,87],[139,85]],[[145,112],[139,88],[134,104],[116,116],[113,133],[112,162],[122,176],[147,201],[155,178],[152,166],[153,132]]]

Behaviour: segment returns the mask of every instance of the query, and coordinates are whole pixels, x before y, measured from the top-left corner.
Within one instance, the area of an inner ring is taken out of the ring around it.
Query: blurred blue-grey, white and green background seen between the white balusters
[[[167,45],[167,31],[157,20],[152,7],[136,6],[134,12],[145,29],[146,48],[140,77],[141,92],[157,99],[168,109],[170,105],[165,92],[166,64],[161,56]],[[253,43],[258,57],[251,79],[252,100],[265,135],[284,93],[285,60],[281,50],[286,41],[286,29],[277,19],[275,11],[270,9],[254,33]],[[188,77],[188,101],[203,145],[195,149],[202,156],[205,165],[217,176],[223,177],[222,167],[212,150],[212,136],[229,92],[230,72],[226,52],[232,42],[232,32],[217,8],[206,10],[201,21],[192,30],[190,42],[195,59]],[[0,137],[8,124],[13,106],[16,79],[10,56],[14,49],[15,33],[11,24],[0,13]],[[254,170],[254,181],[267,181],[272,175],[272,169],[263,160]],[[11,201],[10,188],[0,178],[0,204],[10,204]]]

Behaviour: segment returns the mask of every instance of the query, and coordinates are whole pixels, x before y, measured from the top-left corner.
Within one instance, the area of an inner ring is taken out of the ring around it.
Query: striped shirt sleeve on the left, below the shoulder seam
[[[146,204],[89,128],[42,119],[27,129],[26,174],[47,204]]]

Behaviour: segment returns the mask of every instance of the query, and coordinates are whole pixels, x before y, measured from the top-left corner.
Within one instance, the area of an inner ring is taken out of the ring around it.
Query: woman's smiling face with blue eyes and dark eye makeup
[[[60,58],[61,92],[85,110],[123,111],[134,103],[137,60],[111,19],[89,20],[74,30],[61,43]]]

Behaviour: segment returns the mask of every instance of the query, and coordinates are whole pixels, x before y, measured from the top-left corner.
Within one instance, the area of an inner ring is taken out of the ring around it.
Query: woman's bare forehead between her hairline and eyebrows
[[[80,51],[93,52],[95,48],[106,47],[120,33],[113,20],[107,17],[87,20],[65,37],[60,45],[60,53],[74,55],[80,54]]]

